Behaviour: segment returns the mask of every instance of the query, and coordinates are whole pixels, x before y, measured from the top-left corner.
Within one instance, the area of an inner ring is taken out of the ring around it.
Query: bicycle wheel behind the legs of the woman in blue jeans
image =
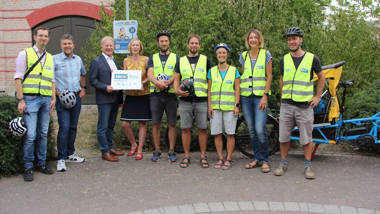
[[[269,156],[271,156],[280,150],[279,124],[271,115],[268,115],[267,117],[265,129],[268,136]],[[248,127],[247,123],[244,121],[244,116],[237,120],[235,139],[236,147],[241,153],[250,158],[255,157],[252,152],[252,143],[249,139]]]

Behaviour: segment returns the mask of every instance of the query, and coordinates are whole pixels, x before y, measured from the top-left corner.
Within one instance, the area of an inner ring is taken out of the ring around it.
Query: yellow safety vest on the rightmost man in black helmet
[[[314,54],[307,52],[296,70],[290,53],[284,56],[282,99],[307,102],[313,98],[313,80],[310,81],[313,58]]]

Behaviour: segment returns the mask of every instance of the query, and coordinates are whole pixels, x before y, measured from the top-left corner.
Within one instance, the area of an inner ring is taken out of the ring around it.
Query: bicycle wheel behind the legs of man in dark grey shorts
[[[182,146],[182,130],[180,127],[180,116],[177,116],[177,138],[176,138],[176,144],[174,144],[174,152],[176,153],[185,153],[184,147]],[[170,148],[169,144],[169,126],[165,129],[165,144],[168,148]],[[190,152],[196,150],[199,148],[199,142],[198,142],[198,128],[194,125],[193,122],[193,128],[191,129],[191,142],[190,142]]]

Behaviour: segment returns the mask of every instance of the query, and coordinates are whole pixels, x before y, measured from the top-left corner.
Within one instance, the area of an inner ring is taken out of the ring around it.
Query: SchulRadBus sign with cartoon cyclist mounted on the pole
[[[134,38],[137,38],[136,20],[114,21],[115,53],[129,53],[128,44]]]

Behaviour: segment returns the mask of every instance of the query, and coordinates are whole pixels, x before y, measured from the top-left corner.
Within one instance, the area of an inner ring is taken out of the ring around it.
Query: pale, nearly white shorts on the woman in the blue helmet
[[[214,115],[210,118],[211,134],[217,135],[223,132],[223,125],[226,134],[235,134],[237,116],[233,111],[223,111],[214,109]]]

